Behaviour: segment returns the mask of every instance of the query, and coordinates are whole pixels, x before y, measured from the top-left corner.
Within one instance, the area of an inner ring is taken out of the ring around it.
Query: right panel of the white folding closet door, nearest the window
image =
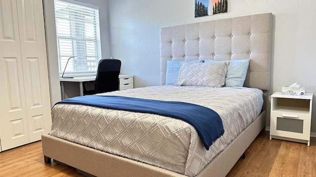
[[[42,0],[17,0],[30,142],[51,128]]]

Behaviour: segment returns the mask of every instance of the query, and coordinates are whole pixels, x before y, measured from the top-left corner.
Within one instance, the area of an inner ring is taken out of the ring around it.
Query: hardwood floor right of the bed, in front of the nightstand
[[[316,177],[316,138],[307,144],[269,140],[262,131],[227,177]]]

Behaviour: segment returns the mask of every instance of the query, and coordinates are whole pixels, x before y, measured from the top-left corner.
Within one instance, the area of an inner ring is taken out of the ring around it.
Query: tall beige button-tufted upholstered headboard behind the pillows
[[[270,89],[272,13],[160,29],[161,85],[167,60],[250,59],[245,87]]]

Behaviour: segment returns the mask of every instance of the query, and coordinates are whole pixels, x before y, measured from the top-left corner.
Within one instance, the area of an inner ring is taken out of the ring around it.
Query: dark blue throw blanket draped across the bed
[[[215,111],[191,103],[102,95],[77,96],[58,103],[80,104],[178,118],[195,127],[207,150],[215,140],[224,134],[222,119]]]

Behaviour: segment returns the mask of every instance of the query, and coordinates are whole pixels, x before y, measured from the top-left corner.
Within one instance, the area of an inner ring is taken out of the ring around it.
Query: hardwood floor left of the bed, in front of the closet
[[[84,177],[74,168],[45,164],[41,142],[0,152],[0,177]]]

